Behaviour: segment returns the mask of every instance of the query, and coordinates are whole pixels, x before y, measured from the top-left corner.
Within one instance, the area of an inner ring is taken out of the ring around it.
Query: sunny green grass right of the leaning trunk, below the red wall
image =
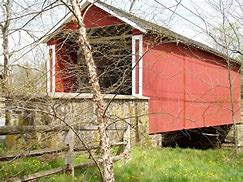
[[[242,155],[225,150],[139,149],[117,181],[243,181]]]

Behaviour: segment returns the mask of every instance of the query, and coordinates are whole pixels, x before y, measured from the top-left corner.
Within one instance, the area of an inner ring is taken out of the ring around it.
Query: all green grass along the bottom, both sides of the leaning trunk
[[[80,156],[76,163],[84,161]],[[63,165],[61,159],[29,158],[0,164],[0,179],[31,174],[40,170]],[[184,182],[184,181],[243,181],[243,154],[235,155],[230,150],[194,150],[180,148],[139,148],[132,150],[132,159],[117,162],[115,177],[119,182]],[[65,175],[54,175],[39,181],[70,181]],[[73,181],[99,181],[94,168],[75,171]]]

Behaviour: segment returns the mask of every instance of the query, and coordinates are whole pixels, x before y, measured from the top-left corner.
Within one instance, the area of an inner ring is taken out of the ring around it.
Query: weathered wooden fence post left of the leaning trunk
[[[70,174],[74,176],[74,165],[73,165],[73,156],[74,156],[74,132],[70,128],[67,132],[65,139],[64,139],[65,145],[68,147],[68,151],[65,155],[65,173]]]

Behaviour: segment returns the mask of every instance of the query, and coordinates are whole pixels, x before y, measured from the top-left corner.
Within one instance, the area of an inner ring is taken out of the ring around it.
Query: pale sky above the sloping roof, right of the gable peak
[[[107,2],[127,11],[131,5],[130,0],[107,0]],[[181,5],[176,7],[178,4],[176,0],[137,0],[131,12],[141,18],[170,28],[188,38],[208,44],[208,41],[205,40],[207,35],[204,33],[203,21],[192,13],[196,9],[200,12],[207,11],[207,13],[210,13],[207,1],[182,0],[180,3]],[[200,10],[198,6],[200,6]]]

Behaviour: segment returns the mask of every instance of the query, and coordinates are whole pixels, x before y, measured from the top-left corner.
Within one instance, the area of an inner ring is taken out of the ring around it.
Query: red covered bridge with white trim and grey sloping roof
[[[229,76],[239,122],[239,62],[105,3],[81,7],[103,92],[149,97],[151,134],[232,124]],[[89,92],[76,29],[69,14],[44,40],[49,93]]]

